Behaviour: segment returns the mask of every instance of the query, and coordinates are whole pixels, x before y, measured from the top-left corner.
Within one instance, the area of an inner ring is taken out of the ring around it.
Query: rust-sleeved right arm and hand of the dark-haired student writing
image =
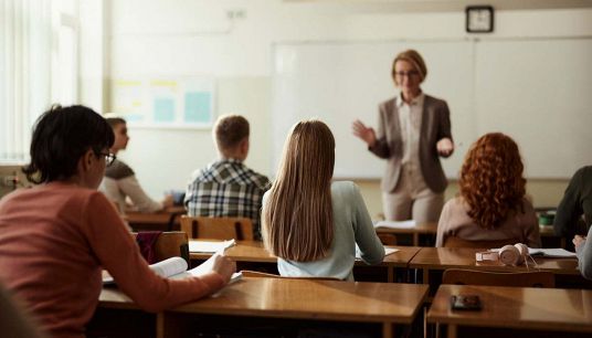
[[[159,311],[195,300],[216,292],[228,282],[228,277],[211,271],[198,278],[171,281],[157,276],[103,194],[93,196],[86,216],[86,235],[99,263],[119,288],[145,310]]]

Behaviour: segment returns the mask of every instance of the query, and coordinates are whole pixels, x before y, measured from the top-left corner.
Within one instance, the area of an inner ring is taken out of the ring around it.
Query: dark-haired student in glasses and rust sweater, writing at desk
[[[54,338],[84,337],[103,268],[149,311],[210,295],[235,271],[220,255],[199,277],[169,281],[148,267],[113,203],[96,190],[113,161],[113,140],[92,109],[52,107],[38,119],[23,170],[40,184],[0,200],[0,281]]]

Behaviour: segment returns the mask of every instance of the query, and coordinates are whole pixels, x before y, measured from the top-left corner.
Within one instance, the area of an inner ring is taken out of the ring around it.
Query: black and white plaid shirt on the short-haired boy
[[[223,159],[197,170],[187,188],[184,204],[192,216],[241,216],[253,220],[261,240],[261,203],[269,180],[240,160]]]

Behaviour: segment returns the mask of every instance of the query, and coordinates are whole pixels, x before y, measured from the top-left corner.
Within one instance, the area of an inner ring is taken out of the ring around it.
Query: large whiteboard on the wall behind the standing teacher
[[[337,178],[380,178],[385,161],[352,136],[359,118],[377,126],[392,98],[394,56],[417,50],[427,64],[424,93],[451,109],[455,154],[442,159],[456,178],[480,135],[503,131],[520,146],[530,178],[569,178],[592,162],[592,40],[446,40],[279,43],[273,49],[272,172],[289,128],[319,118],[336,138]],[[561,74],[553,77],[550,74]]]

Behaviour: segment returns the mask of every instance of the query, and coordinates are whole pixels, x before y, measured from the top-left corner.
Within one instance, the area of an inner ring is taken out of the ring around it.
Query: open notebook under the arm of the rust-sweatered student
[[[158,262],[150,265],[150,268],[159,276],[165,278],[171,278],[171,279],[179,279],[179,278],[187,278],[187,277],[195,277],[201,274],[203,274],[204,270],[209,270],[207,263],[200,264],[197,267],[193,267],[192,270],[187,270],[188,265],[186,260],[181,257],[171,257],[168,260],[165,260],[162,262]],[[229,282],[234,283],[242,278],[242,274],[240,272],[234,273]],[[105,271],[103,272],[103,285],[114,284],[114,279],[108,273]]]

